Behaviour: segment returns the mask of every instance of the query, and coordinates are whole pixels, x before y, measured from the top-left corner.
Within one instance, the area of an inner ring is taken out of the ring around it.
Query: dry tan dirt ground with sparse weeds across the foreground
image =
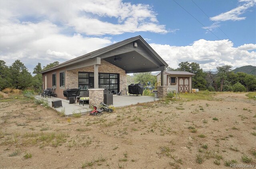
[[[255,134],[256,100],[244,93],[81,117],[17,99],[0,102],[0,168],[224,169],[231,160],[255,167]]]

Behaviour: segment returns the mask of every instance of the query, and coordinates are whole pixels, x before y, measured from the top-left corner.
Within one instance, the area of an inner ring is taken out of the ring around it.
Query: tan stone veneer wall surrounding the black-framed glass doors
[[[101,60],[100,62],[101,64],[98,67],[99,73],[119,73],[119,90],[124,93],[127,83],[125,71],[107,61]],[[66,88],[78,88],[78,72],[94,72],[94,66],[66,71]]]

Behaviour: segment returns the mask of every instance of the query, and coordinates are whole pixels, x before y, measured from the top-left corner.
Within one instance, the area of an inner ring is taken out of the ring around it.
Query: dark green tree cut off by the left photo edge
[[[12,87],[10,83],[10,70],[6,66],[6,62],[0,60],[0,90],[7,87]]]

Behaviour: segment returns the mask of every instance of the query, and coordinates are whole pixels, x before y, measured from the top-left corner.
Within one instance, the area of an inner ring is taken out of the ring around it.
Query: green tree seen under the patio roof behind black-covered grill
[[[151,72],[134,73],[133,76],[135,83],[140,83],[142,86],[147,86],[148,82],[151,85],[156,83],[156,76],[151,75]]]

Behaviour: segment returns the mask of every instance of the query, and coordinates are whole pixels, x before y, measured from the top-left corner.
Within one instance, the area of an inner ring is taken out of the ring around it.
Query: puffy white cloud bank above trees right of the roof
[[[200,39],[189,46],[170,46],[151,43],[150,46],[168,63],[177,68],[180,62],[196,62],[204,70],[216,70],[217,66],[232,65],[233,68],[245,65],[256,66],[255,44],[233,47],[232,41],[207,41]]]

